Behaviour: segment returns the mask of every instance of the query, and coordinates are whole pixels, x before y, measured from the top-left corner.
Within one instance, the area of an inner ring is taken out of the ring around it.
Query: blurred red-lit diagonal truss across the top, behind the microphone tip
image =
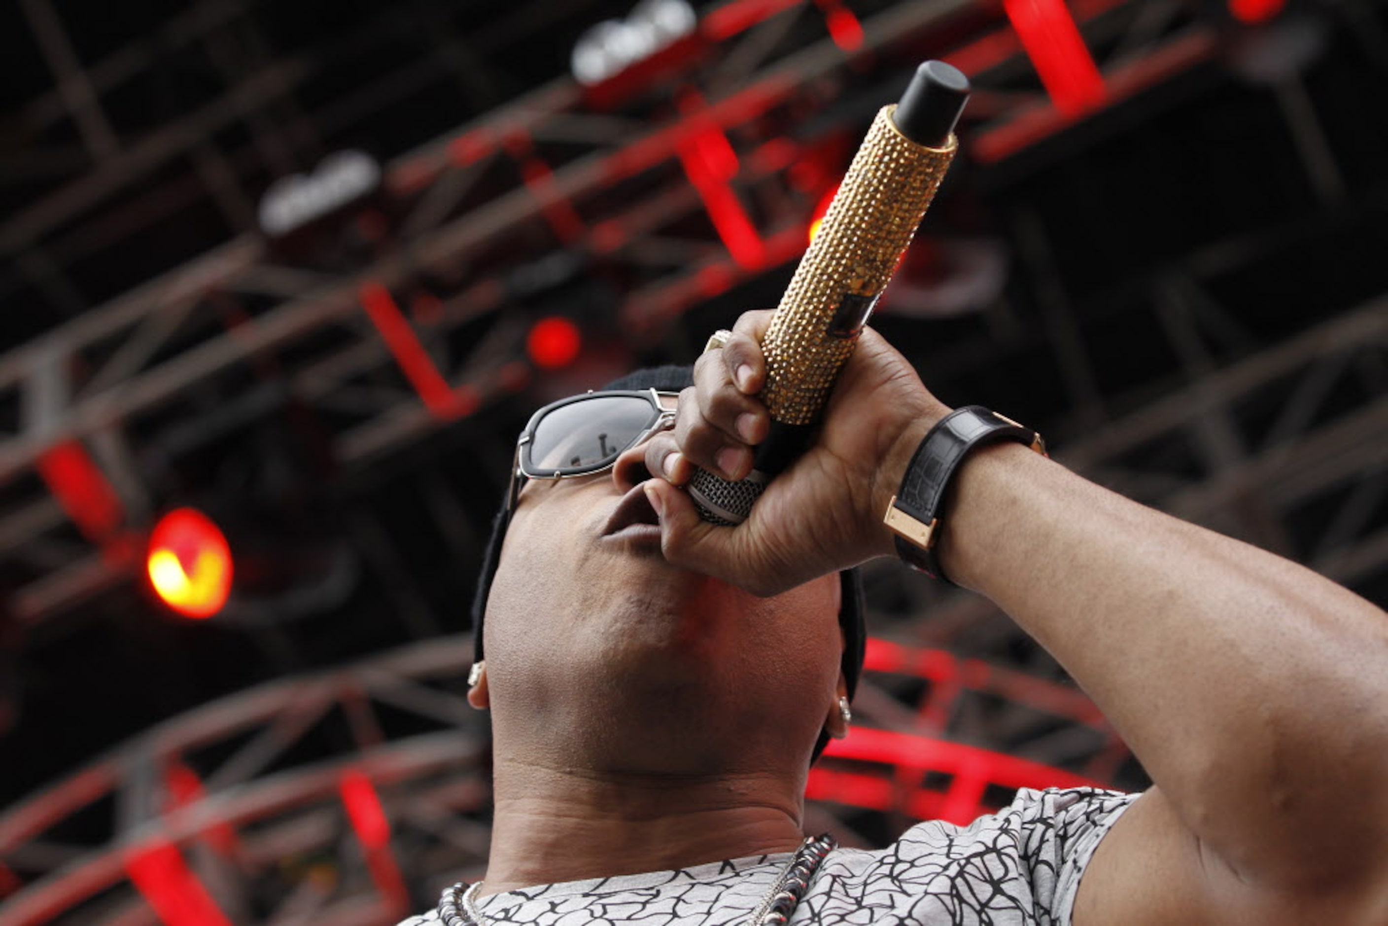
[[[1084,0],[1073,14],[1103,50],[1106,96],[1087,117],[1220,47],[1219,24],[1180,3]],[[786,53],[819,15],[809,3],[729,3],[680,56],[637,75],[650,92],[561,79],[397,158],[380,199],[325,251],[286,254],[246,233],[0,357],[0,554],[19,576],[21,623],[126,580],[160,504],[136,461],[176,461],[219,422],[289,398],[329,432],[337,465],[371,465],[526,386],[527,297],[583,275],[623,280],[616,343],[662,343],[690,307],[802,251],[834,180],[824,146],[923,53],[974,76],[981,162],[1076,121],[1029,86],[998,10],[899,4],[865,18],[854,50],[820,26]],[[805,112],[836,107],[848,115],[797,135],[815,125]],[[736,158],[736,180],[709,151]],[[35,242],[82,201],[28,210],[3,237]],[[479,319],[494,322],[480,340]],[[64,497],[65,466],[85,480],[81,497]]]

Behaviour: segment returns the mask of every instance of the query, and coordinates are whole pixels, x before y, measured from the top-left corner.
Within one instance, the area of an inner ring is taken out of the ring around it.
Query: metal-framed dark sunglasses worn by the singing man
[[[525,479],[568,479],[605,472],[629,447],[675,423],[679,393],[613,390],[550,403],[530,416],[516,443],[507,511]]]

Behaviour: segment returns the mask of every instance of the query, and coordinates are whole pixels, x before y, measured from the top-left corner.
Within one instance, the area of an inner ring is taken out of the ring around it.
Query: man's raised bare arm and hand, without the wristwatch
[[[738,418],[765,416],[752,398],[765,323],[744,317],[722,354],[701,361],[676,435],[651,441],[652,472],[679,485],[691,464],[715,468],[727,447],[745,450]],[[770,593],[890,554],[887,500],[944,412],[865,333],[819,441],[747,523],[705,525],[683,493],[652,483],[666,557]],[[730,475],[750,462],[743,454]],[[1020,446],[972,455],[942,521],[947,573],[1045,646],[1156,783],[1095,854],[1077,923],[1388,922],[1381,609]]]

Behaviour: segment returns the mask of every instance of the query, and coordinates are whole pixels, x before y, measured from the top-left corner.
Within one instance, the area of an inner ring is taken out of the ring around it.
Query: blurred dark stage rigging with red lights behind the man
[[[518,432],[775,305],[931,57],[976,94],[874,325],[1388,600],[1384,4],[18,0],[0,36],[0,926],[393,923],[477,875]],[[987,601],[867,583],[811,830],[1144,786]]]

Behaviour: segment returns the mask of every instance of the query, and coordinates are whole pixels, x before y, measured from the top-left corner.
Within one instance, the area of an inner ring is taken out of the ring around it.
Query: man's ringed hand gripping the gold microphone
[[[661,515],[665,558],[756,594],[891,554],[881,518],[911,455],[948,408],[911,364],[872,329],[862,333],[805,454],[776,476],[745,523],[702,521],[677,489],[694,468],[737,480],[752,469],[770,418],[756,398],[766,382],[761,340],[772,312],[747,312],[722,350],[694,365],[672,433],[651,439],[647,483]]]

